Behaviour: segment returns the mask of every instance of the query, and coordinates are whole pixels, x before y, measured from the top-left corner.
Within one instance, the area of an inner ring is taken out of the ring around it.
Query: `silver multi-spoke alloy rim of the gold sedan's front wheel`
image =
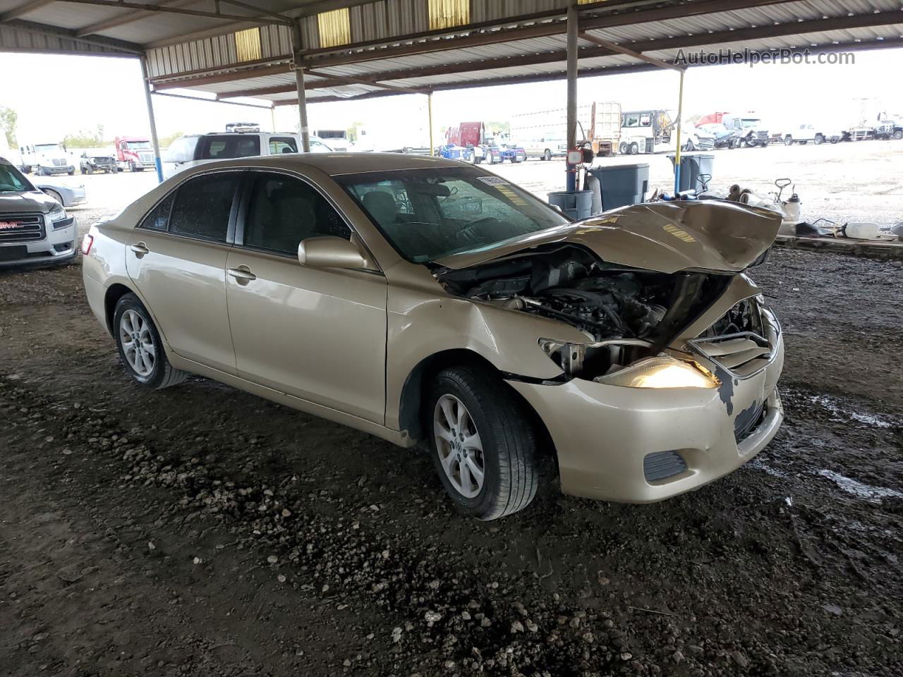
[[[433,411],[436,452],[452,487],[467,498],[479,495],[486,476],[483,443],[464,403],[443,394]]]

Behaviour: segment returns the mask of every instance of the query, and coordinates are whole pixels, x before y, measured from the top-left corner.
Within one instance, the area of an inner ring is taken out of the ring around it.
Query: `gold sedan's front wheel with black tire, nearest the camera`
[[[444,425],[446,412],[452,421],[464,422],[461,428]],[[425,424],[433,465],[461,513],[494,520],[523,510],[533,500],[539,485],[534,427],[498,376],[481,366],[443,369],[433,381]],[[442,436],[442,430],[451,439]],[[462,433],[465,441],[476,437],[481,449],[462,446]],[[481,483],[470,470],[480,466]],[[470,491],[464,493],[456,484]]]

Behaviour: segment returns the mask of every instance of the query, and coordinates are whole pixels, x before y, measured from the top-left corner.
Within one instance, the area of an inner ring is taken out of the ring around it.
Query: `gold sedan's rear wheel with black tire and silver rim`
[[[128,322],[124,323],[126,316],[128,317]],[[141,321],[136,322],[135,317]],[[126,357],[126,350],[129,350],[129,348],[124,345],[123,338],[128,336],[129,327],[134,332],[132,337],[141,337],[139,343],[142,346],[150,343],[152,350],[147,351],[145,349],[144,353],[151,353],[153,357],[152,365],[148,365],[145,357],[140,359]],[[116,303],[116,310],[113,311],[113,335],[116,337],[116,348],[119,350],[119,359],[122,360],[123,366],[126,367],[126,374],[131,376],[135,382],[148,388],[160,389],[182,383],[185,377],[188,376],[188,372],[176,369],[166,358],[160,332],[154,326],[154,320],[151,320],[150,313],[144,309],[144,305],[142,305],[141,301],[138,301],[138,297],[134,293],[125,294]],[[149,368],[147,368],[148,366]]]

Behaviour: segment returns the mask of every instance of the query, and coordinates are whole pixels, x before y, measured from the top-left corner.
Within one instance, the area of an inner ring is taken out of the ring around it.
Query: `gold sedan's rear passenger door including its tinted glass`
[[[226,309],[226,257],[245,172],[194,176],[142,220],[126,267],[170,348],[236,373]]]

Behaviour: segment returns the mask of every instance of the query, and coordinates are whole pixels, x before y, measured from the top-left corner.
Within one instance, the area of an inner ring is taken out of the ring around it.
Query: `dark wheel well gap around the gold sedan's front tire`
[[[405,385],[402,387],[398,407],[398,421],[401,430],[406,430],[412,441],[425,441],[426,439],[426,429],[424,427],[424,420],[428,414],[425,411],[427,403],[426,393],[433,377],[444,368],[464,365],[476,365],[485,368],[498,376],[501,381],[510,377],[510,375],[506,375],[499,370],[486,357],[469,348],[450,348],[424,357],[411,369],[405,378]],[[548,428],[546,428],[545,422],[536,413],[533,405],[528,403],[526,398],[514,388],[509,387],[507,384],[505,385],[508,393],[523,407],[527,417],[534,424],[540,452],[544,455],[549,453],[553,458],[557,458],[552,436]]]

